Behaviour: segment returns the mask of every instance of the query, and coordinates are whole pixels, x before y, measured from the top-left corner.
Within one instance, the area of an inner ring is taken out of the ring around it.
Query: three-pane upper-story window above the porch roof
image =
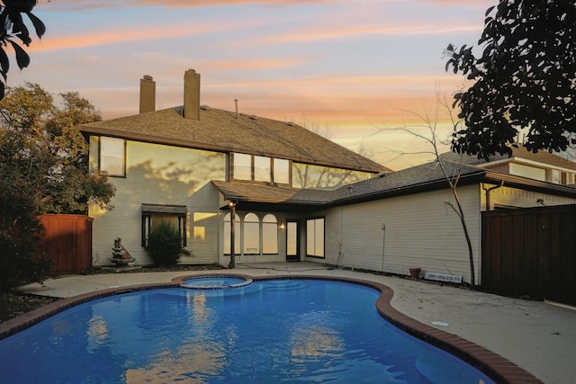
[[[290,184],[290,161],[282,158],[232,154],[233,180]]]

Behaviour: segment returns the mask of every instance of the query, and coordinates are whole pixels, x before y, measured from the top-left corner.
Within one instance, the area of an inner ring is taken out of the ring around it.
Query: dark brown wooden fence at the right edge
[[[482,212],[482,289],[576,305],[576,205]]]

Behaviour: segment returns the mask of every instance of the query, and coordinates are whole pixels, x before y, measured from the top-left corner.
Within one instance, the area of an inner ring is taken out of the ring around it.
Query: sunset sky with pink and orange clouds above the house
[[[47,33],[14,54],[8,85],[77,91],[103,119],[138,113],[153,76],[157,109],[183,104],[184,71],[202,104],[294,121],[398,170],[430,147],[395,127],[452,102],[449,43],[475,45],[496,0],[40,0]],[[28,24],[31,27],[31,23]],[[435,119],[436,120],[436,119]],[[437,119],[444,138],[448,112]],[[391,130],[392,129],[392,130]],[[404,153],[398,157],[397,152]]]

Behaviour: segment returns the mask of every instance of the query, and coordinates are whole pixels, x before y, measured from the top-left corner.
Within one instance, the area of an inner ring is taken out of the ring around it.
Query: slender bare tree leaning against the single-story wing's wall
[[[427,109],[424,113],[419,113],[419,112],[412,112],[412,111],[404,111],[407,113],[410,113],[410,115],[416,117],[420,122],[416,123],[416,124],[412,124],[412,125],[404,125],[402,127],[397,127],[397,128],[378,128],[376,127],[376,129],[378,129],[377,133],[380,133],[382,131],[386,131],[386,130],[391,130],[391,131],[402,131],[402,132],[406,132],[409,133],[410,135],[412,135],[414,138],[418,138],[420,140],[423,140],[425,143],[428,144],[428,147],[430,149],[426,150],[426,151],[419,151],[419,152],[411,152],[411,153],[406,153],[406,152],[401,152],[401,151],[396,151],[394,150],[393,152],[396,152],[398,154],[398,156],[406,156],[406,155],[415,155],[415,154],[430,154],[432,156],[434,156],[434,161],[436,162],[436,166],[442,171],[442,174],[444,175],[444,177],[446,178],[446,182],[448,183],[448,186],[450,187],[450,190],[452,191],[452,195],[454,196],[455,199],[455,204],[451,201],[445,201],[445,204],[447,207],[450,207],[451,210],[454,210],[456,216],[458,217],[458,219],[460,220],[460,223],[462,225],[462,229],[464,231],[464,239],[466,241],[466,245],[468,246],[468,257],[469,257],[469,263],[470,263],[470,283],[472,286],[476,285],[476,279],[475,279],[475,274],[474,274],[474,260],[473,260],[473,247],[472,247],[472,241],[470,239],[470,234],[468,232],[468,227],[466,225],[466,219],[464,217],[464,209],[462,207],[462,201],[460,200],[460,195],[458,194],[458,183],[460,182],[460,176],[462,174],[462,169],[463,169],[463,153],[459,153],[459,161],[457,163],[457,166],[453,169],[452,167],[450,167],[450,169],[446,166],[446,162],[447,161],[454,161],[454,160],[448,160],[446,158],[442,158],[442,156],[440,156],[440,152],[438,150],[438,147],[442,146],[449,146],[449,142],[450,142],[450,135],[448,135],[446,137],[446,139],[441,139],[438,137],[439,134],[439,129],[438,129],[438,121],[439,121],[439,115],[440,115],[440,111],[446,109],[446,112],[450,118],[452,127],[454,129],[454,131],[457,131],[457,129],[459,129],[460,124],[462,123],[462,121],[456,121],[454,118],[454,115],[452,113],[452,108],[451,106],[446,103],[446,100],[441,100],[440,97],[437,97],[437,105],[432,108],[432,109]],[[422,130],[425,130],[426,133],[422,133]]]

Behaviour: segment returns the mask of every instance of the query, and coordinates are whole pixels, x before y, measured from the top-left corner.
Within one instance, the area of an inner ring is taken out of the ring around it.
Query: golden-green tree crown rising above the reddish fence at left
[[[90,102],[79,94],[60,94],[62,107],[40,85],[10,89],[0,102],[0,129],[10,132],[0,142],[19,140],[21,151],[31,156],[37,168],[31,191],[38,213],[87,213],[88,203],[109,205],[114,194],[106,174],[91,171],[88,145],[78,125],[101,120]],[[31,186],[29,186],[31,188]]]

